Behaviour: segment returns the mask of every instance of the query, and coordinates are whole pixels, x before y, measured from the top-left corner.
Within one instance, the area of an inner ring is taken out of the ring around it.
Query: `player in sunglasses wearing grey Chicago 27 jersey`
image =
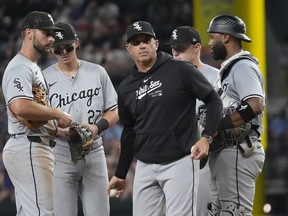
[[[57,23],[63,32],[55,33],[52,51],[57,63],[43,71],[50,87],[53,107],[69,113],[77,123],[93,133],[94,144],[85,158],[74,164],[70,158],[67,132],[55,139],[55,215],[76,216],[78,195],[84,215],[109,216],[106,193],[108,170],[101,132],[118,121],[117,95],[103,67],[77,58],[80,41],[74,27]]]

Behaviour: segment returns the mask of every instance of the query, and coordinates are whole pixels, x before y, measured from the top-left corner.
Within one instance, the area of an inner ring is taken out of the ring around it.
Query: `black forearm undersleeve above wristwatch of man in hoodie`
[[[213,89],[204,99],[206,105],[206,124],[202,133],[213,136],[222,117],[223,103],[217,92]]]

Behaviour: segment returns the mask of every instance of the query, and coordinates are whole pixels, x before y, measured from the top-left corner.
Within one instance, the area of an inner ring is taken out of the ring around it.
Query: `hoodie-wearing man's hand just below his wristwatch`
[[[201,137],[191,148],[191,159],[201,160],[208,156],[209,142],[205,137]]]

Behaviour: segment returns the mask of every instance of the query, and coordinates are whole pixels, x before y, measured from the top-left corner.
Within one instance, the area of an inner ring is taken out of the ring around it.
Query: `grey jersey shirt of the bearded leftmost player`
[[[17,98],[33,100],[32,87],[34,86],[42,88],[48,95],[47,85],[39,66],[21,54],[16,55],[7,65],[2,80],[6,104],[10,104],[11,101]],[[23,133],[37,136],[55,136],[56,124],[54,120],[48,121],[47,124],[33,133],[21,124],[9,109],[7,109],[7,115],[9,134]]]

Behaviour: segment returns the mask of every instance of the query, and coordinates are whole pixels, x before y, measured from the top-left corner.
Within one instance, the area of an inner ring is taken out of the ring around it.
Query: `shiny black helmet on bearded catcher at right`
[[[243,41],[251,42],[251,39],[245,35],[245,23],[237,16],[216,16],[211,20],[207,31],[208,33],[229,34]]]

